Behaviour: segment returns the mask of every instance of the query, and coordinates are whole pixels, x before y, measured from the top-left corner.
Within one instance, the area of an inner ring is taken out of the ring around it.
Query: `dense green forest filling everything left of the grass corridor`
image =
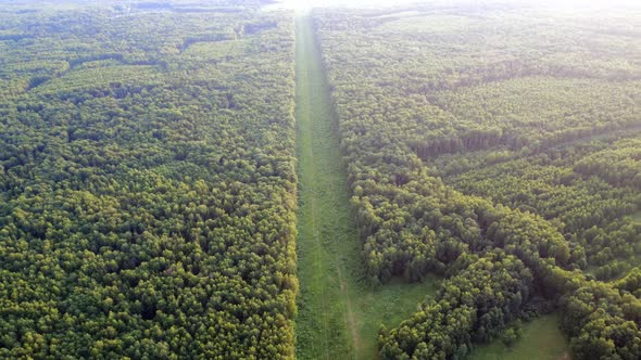
[[[0,99],[0,358],[293,358],[293,20],[242,9],[2,13],[8,83],[77,63]]]

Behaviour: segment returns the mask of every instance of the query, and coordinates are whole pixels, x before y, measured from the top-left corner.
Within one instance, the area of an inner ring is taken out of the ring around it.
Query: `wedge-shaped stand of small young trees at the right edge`
[[[543,216],[558,227],[570,246],[580,246],[573,266],[590,268],[591,274],[607,280],[628,271],[639,256],[641,227],[629,216],[638,211],[641,195],[633,187],[604,180],[607,176],[632,180],[633,171],[598,175],[585,169],[595,163],[595,157],[615,152],[618,144],[636,142],[602,139],[549,149],[469,170],[448,181],[466,193]],[[621,156],[621,163],[633,165],[631,157]],[[614,159],[607,163],[617,164]]]

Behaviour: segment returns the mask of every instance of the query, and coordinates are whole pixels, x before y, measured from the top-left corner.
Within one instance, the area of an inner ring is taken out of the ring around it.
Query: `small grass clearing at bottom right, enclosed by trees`
[[[570,359],[568,344],[558,329],[558,314],[537,318],[523,325],[523,337],[512,347],[494,339],[477,346],[468,360],[557,360]]]

